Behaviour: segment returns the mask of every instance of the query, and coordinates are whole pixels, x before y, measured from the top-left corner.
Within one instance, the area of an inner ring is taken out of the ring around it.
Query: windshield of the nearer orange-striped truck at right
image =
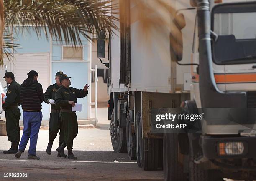
[[[218,35],[217,41],[212,41],[213,61],[217,64],[254,63],[256,12],[230,11],[217,11],[212,15],[212,29]]]

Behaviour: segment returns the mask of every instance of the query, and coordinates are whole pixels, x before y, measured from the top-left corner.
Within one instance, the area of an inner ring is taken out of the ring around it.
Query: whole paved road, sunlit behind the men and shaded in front
[[[46,154],[48,130],[39,131],[36,153],[41,158],[39,161],[27,160],[27,151],[20,159],[13,155],[2,154],[3,150],[9,148],[10,143],[7,136],[0,136],[0,180],[7,179],[3,177],[4,173],[27,173],[28,178],[11,179],[33,181],[163,180],[163,171],[142,171],[136,162],[128,159],[127,154],[113,153],[109,134],[110,131],[106,127],[80,128],[74,140],[74,154],[78,157],[77,161],[56,157],[56,151],[53,151],[50,156]],[[58,140],[55,140],[53,148],[57,147]]]

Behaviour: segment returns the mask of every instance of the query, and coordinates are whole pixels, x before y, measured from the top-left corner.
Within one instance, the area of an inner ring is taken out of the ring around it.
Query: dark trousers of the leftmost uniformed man
[[[6,132],[8,140],[11,142],[20,141],[20,109],[10,108],[5,111]]]

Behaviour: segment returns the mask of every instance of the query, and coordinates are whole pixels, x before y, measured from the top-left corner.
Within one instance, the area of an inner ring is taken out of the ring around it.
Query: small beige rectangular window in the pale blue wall
[[[63,60],[83,60],[82,46],[63,46],[62,50]]]

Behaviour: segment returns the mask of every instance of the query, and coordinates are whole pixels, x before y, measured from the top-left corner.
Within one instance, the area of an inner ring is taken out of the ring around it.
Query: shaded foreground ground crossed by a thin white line
[[[28,160],[28,151],[20,159],[0,151],[0,180],[4,173],[27,173],[28,178],[12,180],[113,180],[162,181],[163,171],[143,171],[127,154],[113,151],[76,151],[77,160],[57,157],[57,152],[37,151],[40,160]],[[66,151],[67,152],[67,151]],[[115,161],[114,161],[115,160]]]

